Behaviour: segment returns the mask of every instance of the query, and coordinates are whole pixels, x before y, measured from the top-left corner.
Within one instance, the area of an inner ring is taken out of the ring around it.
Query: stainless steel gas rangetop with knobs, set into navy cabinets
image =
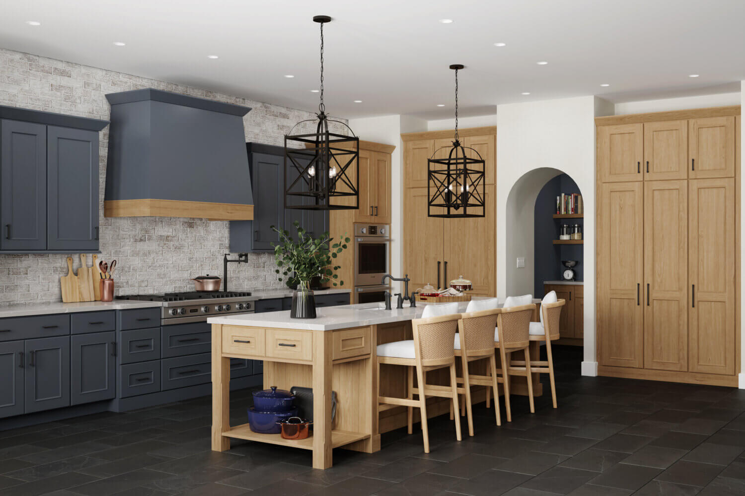
[[[161,301],[161,324],[206,322],[212,315],[253,313],[256,297],[250,292],[183,292],[132,294],[117,300]]]

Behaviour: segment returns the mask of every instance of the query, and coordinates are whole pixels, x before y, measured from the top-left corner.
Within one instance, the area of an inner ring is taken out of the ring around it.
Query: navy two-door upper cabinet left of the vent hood
[[[0,251],[98,251],[107,121],[0,106]]]

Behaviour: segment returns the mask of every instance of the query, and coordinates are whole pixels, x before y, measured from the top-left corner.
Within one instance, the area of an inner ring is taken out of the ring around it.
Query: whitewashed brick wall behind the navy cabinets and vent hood
[[[311,112],[288,109],[201,88],[151,80],[107,69],[63,62],[0,48],[0,105],[108,120],[107,93],[138,88],[209,98],[252,108],[244,117],[246,141],[282,146],[285,133]],[[342,120],[342,119],[340,119]],[[346,120],[345,120],[346,122]],[[296,128],[314,132],[313,123]],[[336,132],[346,134],[337,126]],[[223,254],[229,247],[229,223],[206,219],[122,217],[104,219],[109,129],[100,133],[101,254],[98,260],[117,260],[115,294],[188,291],[189,280],[200,274],[222,276]],[[73,257],[75,270],[80,257]],[[0,254],[0,306],[60,301],[61,275],[67,274],[66,255]],[[236,254],[231,254],[235,258]],[[88,256],[90,263],[90,256]],[[273,254],[249,254],[249,263],[228,264],[232,289],[281,289]]]

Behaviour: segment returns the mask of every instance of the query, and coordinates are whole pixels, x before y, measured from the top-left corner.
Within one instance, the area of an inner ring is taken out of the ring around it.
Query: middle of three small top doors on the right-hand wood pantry
[[[688,178],[688,121],[644,123],[644,181]]]

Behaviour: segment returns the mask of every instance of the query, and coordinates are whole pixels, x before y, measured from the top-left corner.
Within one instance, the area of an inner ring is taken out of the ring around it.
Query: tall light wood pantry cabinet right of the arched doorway
[[[595,122],[600,375],[736,386],[740,107]]]

